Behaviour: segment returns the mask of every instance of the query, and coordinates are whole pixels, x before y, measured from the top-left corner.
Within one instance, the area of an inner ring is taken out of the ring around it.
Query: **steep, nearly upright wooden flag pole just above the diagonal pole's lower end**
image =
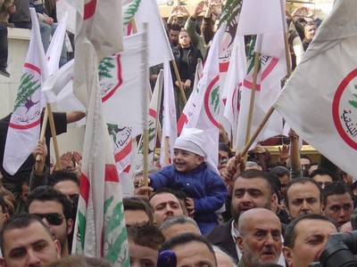
[[[257,83],[258,70],[259,70],[259,58],[261,56],[261,53],[260,53],[261,46],[262,46],[262,35],[258,35],[257,39],[256,39],[255,48],[254,48],[255,53],[254,53],[253,83],[252,83],[252,91],[251,91],[251,101],[249,103],[248,121],[247,121],[246,132],[245,132],[245,143],[247,143],[249,141],[249,138],[251,135],[254,100],[255,100],[255,90],[256,90],[256,83]],[[246,157],[245,157],[245,161],[246,161]]]

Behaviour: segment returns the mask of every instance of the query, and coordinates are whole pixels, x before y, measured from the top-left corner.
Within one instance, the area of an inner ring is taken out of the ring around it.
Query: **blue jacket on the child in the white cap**
[[[197,223],[216,223],[215,211],[223,206],[227,196],[226,185],[219,174],[208,169],[203,163],[193,171],[181,173],[174,166],[165,166],[159,173],[150,174],[150,186],[157,190],[168,187],[172,190],[184,190],[194,199],[195,221]]]

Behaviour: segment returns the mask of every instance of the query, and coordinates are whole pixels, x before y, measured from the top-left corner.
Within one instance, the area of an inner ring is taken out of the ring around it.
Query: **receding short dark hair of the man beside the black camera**
[[[326,217],[322,214],[304,214],[300,217],[297,217],[291,223],[287,224],[286,231],[284,234],[284,246],[285,247],[290,247],[290,248],[295,247],[295,239],[296,239],[296,234],[297,234],[295,228],[296,228],[297,223],[300,223],[304,220],[320,220],[320,221],[332,223],[336,227],[335,223],[333,223],[330,219],[328,219],[328,217]],[[337,227],[336,227],[336,231],[338,231]]]

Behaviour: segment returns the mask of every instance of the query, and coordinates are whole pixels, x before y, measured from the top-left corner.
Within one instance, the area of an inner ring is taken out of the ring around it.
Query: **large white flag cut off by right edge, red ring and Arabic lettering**
[[[336,1],[273,107],[316,150],[357,176],[357,1]]]

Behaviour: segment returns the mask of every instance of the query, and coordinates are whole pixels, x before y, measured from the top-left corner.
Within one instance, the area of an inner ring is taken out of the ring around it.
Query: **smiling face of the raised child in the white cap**
[[[173,150],[173,166],[175,166],[178,172],[190,172],[203,163],[203,160],[204,158],[202,156],[198,156],[187,150]]]

